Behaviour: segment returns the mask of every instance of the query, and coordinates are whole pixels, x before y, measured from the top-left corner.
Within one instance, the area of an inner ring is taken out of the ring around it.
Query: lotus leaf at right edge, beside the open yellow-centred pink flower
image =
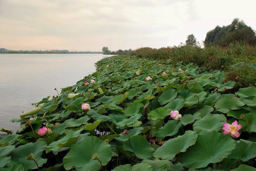
[[[256,114],[254,113],[246,113],[245,114],[246,119],[248,120],[248,124],[250,127],[250,132],[256,132]],[[246,119],[239,119],[238,124],[242,125],[242,130],[249,132],[249,128],[247,125]]]

